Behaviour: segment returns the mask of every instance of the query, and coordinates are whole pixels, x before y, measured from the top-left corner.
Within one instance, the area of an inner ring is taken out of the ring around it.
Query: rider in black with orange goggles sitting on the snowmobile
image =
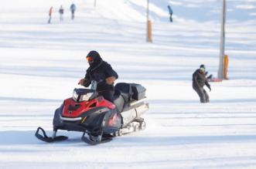
[[[101,59],[97,51],[90,51],[86,59],[90,66],[87,69],[84,79],[80,79],[80,85],[88,87],[92,80],[96,80],[97,93],[113,103],[114,80],[118,79],[118,73],[112,69],[110,64]]]

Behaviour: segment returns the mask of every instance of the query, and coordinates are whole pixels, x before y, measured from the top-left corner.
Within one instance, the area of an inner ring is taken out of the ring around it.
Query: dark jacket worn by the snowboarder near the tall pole
[[[210,89],[210,84],[207,82],[207,77],[205,73],[200,72],[200,69],[196,69],[196,72],[193,73],[193,88],[194,87],[203,87],[206,85]]]

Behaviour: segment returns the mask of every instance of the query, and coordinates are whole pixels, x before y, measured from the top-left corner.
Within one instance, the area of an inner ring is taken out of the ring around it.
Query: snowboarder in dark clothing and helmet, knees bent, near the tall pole
[[[207,81],[206,77],[206,67],[204,65],[200,66],[200,69],[196,69],[196,72],[193,73],[193,90],[196,90],[198,96],[200,96],[201,103],[208,103],[209,95],[207,91],[203,89],[203,86],[206,85],[210,89],[210,84]],[[210,89],[211,90],[211,89]]]

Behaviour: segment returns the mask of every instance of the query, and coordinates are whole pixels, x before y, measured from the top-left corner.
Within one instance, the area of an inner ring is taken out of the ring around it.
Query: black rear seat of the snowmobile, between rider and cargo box
[[[131,84],[129,83],[117,83],[114,86],[115,90],[119,90],[121,92],[121,96],[124,97],[125,102],[129,102],[131,100],[132,92],[131,92]]]

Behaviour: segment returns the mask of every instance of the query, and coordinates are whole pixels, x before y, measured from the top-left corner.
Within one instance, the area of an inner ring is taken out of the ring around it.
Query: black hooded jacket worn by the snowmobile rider
[[[85,74],[84,86],[90,86],[91,80],[97,81],[97,92],[104,90],[114,90],[114,84],[109,85],[106,82],[108,77],[114,76],[118,79],[118,73],[112,69],[111,65],[101,59],[101,56],[96,51],[90,51],[88,56],[94,59],[94,63],[89,63],[90,67],[87,69]]]

